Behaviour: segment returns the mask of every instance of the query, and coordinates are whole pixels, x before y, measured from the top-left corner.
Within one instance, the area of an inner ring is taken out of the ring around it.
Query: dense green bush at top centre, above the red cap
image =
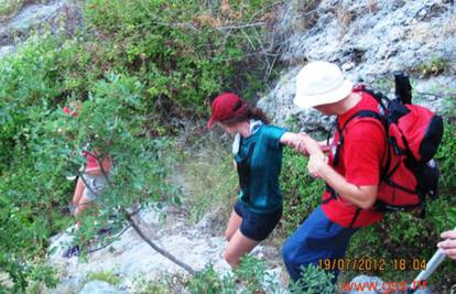
[[[258,86],[251,73],[259,62],[249,52],[263,42],[257,36],[268,31],[222,26],[253,21],[251,17],[269,2],[235,4],[230,14],[240,13],[232,18],[218,7],[204,9],[200,1],[90,0],[85,20],[102,36],[101,46],[94,44],[98,67],[121,66],[141,77],[148,106],[161,113],[200,118],[208,98],[220,90],[239,89],[242,79]]]

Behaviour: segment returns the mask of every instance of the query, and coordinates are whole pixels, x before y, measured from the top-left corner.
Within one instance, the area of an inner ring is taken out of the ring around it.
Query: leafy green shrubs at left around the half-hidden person
[[[0,137],[8,142],[0,146],[4,166],[0,182],[0,202],[4,204],[0,209],[0,255],[17,287],[25,287],[26,279],[45,280],[33,274],[35,270],[23,268],[40,269],[40,262],[29,260],[44,261],[48,238],[70,224],[61,213],[72,197],[73,184],[65,175],[76,174],[84,162],[79,154],[86,142],[116,160],[116,188],[98,203],[98,226],[106,224],[104,219],[118,206],[175,200],[170,186],[163,184],[166,167],[158,163],[170,143],[148,132],[149,120],[141,112],[142,85],[137,78],[112,74],[88,88],[89,97],[82,102],[79,117],[70,118],[62,112],[61,98],[55,100],[63,94],[64,83],[51,78],[54,67],[58,67],[52,61],[66,51],[53,45],[52,40],[31,43],[0,63],[4,121]],[[26,74],[21,76],[22,72]],[[97,229],[93,221],[84,224],[80,240],[89,239]]]

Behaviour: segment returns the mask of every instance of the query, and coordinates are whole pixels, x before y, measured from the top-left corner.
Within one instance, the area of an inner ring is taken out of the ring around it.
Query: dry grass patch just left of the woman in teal
[[[173,178],[182,187],[182,199],[192,221],[213,213],[213,218],[227,222],[238,193],[238,177],[229,146],[210,135],[178,148],[182,155],[173,164]]]

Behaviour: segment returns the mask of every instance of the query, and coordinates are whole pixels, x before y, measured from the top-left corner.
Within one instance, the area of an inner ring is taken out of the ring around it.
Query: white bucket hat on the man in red
[[[301,108],[334,104],[347,97],[352,86],[337,65],[312,62],[297,74],[293,102]]]

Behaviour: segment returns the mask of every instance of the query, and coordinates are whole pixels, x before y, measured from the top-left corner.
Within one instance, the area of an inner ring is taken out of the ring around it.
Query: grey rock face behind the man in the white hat
[[[276,37],[281,59],[290,67],[259,106],[278,124],[291,121],[310,132],[328,129],[328,119],[292,105],[298,69],[306,61],[328,61],[352,81],[362,79],[387,92],[392,70],[408,69],[415,78],[416,101],[443,110],[436,100],[454,99],[456,87],[455,12],[448,0],[287,1]],[[433,66],[442,70],[428,76]]]

